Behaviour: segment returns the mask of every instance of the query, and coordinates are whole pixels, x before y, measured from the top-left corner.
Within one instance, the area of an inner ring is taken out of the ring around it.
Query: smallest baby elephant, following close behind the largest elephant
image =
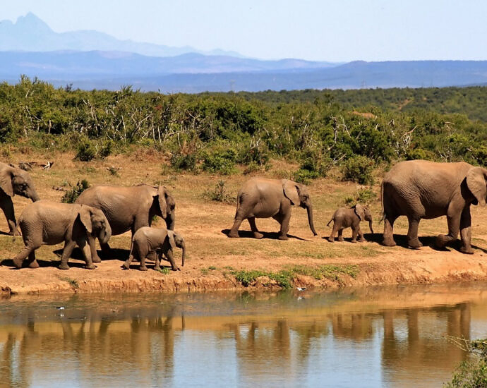
[[[368,210],[368,207],[362,206],[359,203],[357,203],[354,207],[351,207],[350,209],[347,207],[339,207],[336,211],[335,214],[333,214],[332,219],[326,224],[326,226],[330,225],[330,222],[333,222],[333,230],[332,234],[330,234],[330,237],[328,237],[328,241],[330,243],[335,241],[335,234],[338,232],[338,241],[343,241],[343,229],[345,228],[350,228],[352,230],[351,234],[351,242],[356,243],[356,237],[359,235],[359,241],[365,241],[365,238],[363,238],[363,233],[360,230],[360,222],[363,220],[368,221],[368,227],[371,229],[371,232],[373,234],[373,229],[372,229],[372,214]]]

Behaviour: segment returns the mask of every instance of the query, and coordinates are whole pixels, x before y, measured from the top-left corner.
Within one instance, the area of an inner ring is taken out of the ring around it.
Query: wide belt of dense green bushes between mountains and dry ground
[[[216,174],[284,157],[299,164],[297,181],[338,167],[368,184],[398,159],[486,166],[486,99],[486,87],[162,95],[21,77],[0,84],[0,144],[73,150],[83,161],[150,146],[175,169]]]

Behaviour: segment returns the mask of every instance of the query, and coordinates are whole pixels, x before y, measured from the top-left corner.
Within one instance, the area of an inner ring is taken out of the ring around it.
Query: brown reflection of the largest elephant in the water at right
[[[454,308],[427,310],[411,308],[405,312],[400,311],[400,313],[396,313],[395,310],[385,310],[382,314],[384,325],[382,359],[383,364],[390,371],[417,370],[421,372],[428,367],[450,371],[465,359],[466,354],[456,346],[448,344],[447,341],[438,341],[434,337],[421,337],[419,317],[423,313],[428,313],[428,320],[435,320],[435,326],[439,324],[440,328],[444,327],[438,336],[443,335],[446,331],[449,336],[469,339],[471,314],[467,303],[459,303]],[[404,317],[407,320],[407,340],[397,338],[395,335],[395,323],[404,320]],[[445,324],[443,321],[446,321]],[[431,356],[432,353],[442,355],[441,363],[438,362],[438,358]]]

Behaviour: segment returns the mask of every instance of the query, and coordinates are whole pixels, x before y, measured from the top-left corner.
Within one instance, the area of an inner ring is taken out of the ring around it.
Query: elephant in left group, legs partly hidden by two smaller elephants
[[[176,202],[164,186],[94,186],[88,188],[76,200],[80,205],[90,205],[101,209],[112,228],[112,236],[131,231],[132,236],[143,226],[152,224],[152,217],[162,217],[167,229],[174,230]],[[90,238],[93,262],[100,262],[95,240]],[[104,253],[109,245],[100,241]]]

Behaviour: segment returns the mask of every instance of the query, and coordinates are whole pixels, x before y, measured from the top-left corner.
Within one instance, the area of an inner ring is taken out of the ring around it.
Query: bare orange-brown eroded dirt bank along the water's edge
[[[366,243],[364,245],[373,245]],[[375,245],[376,247],[377,245]],[[395,249],[392,254],[391,249]],[[337,288],[343,286],[372,286],[390,284],[433,284],[451,281],[487,280],[487,255],[476,250],[474,255],[463,255],[456,250],[438,252],[424,247],[421,250],[382,248],[378,257],[340,257],[337,259],[276,257],[274,260],[221,257],[212,260],[195,258],[180,272],[164,274],[149,269],[140,272],[138,263],[133,269],[121,270],[120,260],[106,260],[97,269],[89,271],[72,267],[61,271],[52,265],[39,269],[11,269],[0,267],[0,290],[4,295],[30,293],[119,293],[162,291],[213,291],[244,289],[237,273],[251,274],[256,269],[267,274],[278,274],[289,268],[325,268],[320,276],[291,273],[292,286]],[[353,270],[343,270],[353,269]],[[342,271],[343,270],[343,271]],[[272,289],[278,281],[256,274],[250,279],[250,289]],[[289,276],[289,275],[288,275]],[[317,279],[320,277],[320,279]]]

